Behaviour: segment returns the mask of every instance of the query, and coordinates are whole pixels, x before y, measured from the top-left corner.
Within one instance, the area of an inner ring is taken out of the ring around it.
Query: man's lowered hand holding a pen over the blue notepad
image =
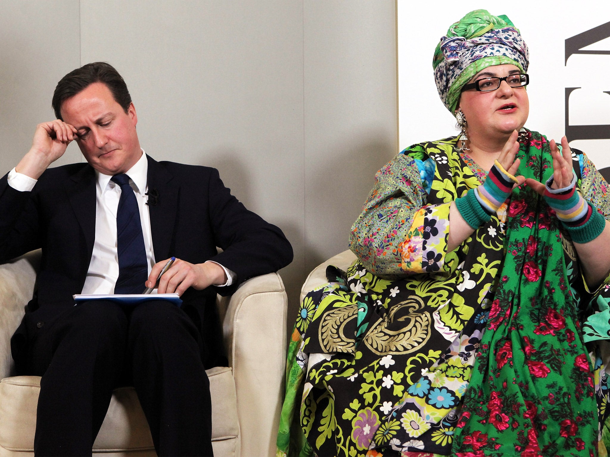
[[[157,277],[170,259],[154,264],[146,281],[146,287],[154,288]],[[186,289],[193,287],[201,290],[209,286],[220,286],[226,283],[227,277],[223,267],[214,262],[188,263],[176,259],[171,267],[159,279],[159,294],[176,293],[182,295]]]

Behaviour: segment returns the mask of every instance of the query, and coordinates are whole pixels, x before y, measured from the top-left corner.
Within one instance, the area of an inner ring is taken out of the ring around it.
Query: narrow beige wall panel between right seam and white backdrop
[[[397,153],[395,2],[304,2],[305,269],[348,247]]]

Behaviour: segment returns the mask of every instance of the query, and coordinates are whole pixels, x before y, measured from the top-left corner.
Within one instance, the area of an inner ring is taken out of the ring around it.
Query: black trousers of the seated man
[[[41,376],[34,453],[91,455],[112,389],[132,383],[159,456],[212,455],[201,339],[176,305],[91,300],[41,322],[29,365]]]

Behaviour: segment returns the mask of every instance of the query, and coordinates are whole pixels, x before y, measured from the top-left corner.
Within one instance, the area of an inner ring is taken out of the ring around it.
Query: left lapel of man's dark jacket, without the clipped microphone
[[[65,190],[74,210],[76,220],[81,226],[87,246],[87,259],[91,260],[95,241],[95,171],[91,166],[84,166],[65,181]],[[87,266],[88,266],[87,262]]]

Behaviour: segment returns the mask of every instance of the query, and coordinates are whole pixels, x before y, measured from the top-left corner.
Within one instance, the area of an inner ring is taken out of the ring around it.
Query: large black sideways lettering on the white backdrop
[[[597,41],[604,40],[608,37],[610,37],[610,22],[601,24],[601,26],[594,27],[586,32],[567,38],[567,40],[565,40],[564,65],[567,65],[570,55],[574,54],[597,54],[610,56],[610,51],[589,51],[583,49],[590,44],[597,43]],[[610,124],[590,126],[570,125],[570,94],[576,89],[580,89],[580,87],[565,88],[565,136],[567,136],[570,141],[610,139]],[[604,91],[604,93],[610,95],[610,90]],[[610,180],[610,167],[601,169],[600,172],[606,181]]]

